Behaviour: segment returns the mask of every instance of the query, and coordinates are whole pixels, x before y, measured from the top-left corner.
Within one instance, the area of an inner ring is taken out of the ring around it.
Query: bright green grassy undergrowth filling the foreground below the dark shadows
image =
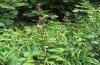
[[[0,29],[0,65],[100,65],[100,22]]]

